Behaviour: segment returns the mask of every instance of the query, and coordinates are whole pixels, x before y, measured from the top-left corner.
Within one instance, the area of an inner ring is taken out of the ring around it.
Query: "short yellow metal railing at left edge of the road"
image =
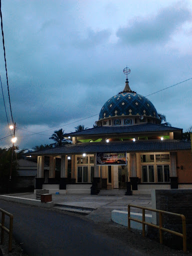
[[[4,242],[4,231],[8,233],[8,251],[12,250],[12,226],[13,226],[13,215],[3,209],[0,208],[0,211],[2,213],[1,216],[1,223],[0,223],[0,228],[1,228],[1,239],[0,239],[0,244]],[[4,217],[5,215],[9,216],[9,229],[4,226]]]

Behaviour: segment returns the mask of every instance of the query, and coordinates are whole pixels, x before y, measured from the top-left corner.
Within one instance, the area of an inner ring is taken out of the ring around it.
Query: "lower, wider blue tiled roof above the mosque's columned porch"
[[[137,140],[126,142],[109,142],[109,143],[78,143],[69,144],[54,148],[47,148],[40,151],[33,151],[26,155],[51,155],[66,153],[94,153],[94,152],[158,152],[158,151],[175,151],[191,149],[188,141],[182,140]]]

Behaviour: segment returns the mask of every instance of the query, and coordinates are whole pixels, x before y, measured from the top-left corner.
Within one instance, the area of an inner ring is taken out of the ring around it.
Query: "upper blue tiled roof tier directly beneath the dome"
[[[143,123],[126,126],[99,126],[86,130],[66,133],[65,136],[81,136],[81,135],[96,135],[96,134],[111,134],[111,133],[136,133],[136,132],[153,132],[153,131],[176,131],[182,130],[162,124]]]

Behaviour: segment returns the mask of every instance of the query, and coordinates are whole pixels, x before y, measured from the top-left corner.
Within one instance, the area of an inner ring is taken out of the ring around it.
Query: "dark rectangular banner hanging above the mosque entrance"
[[[96,153],[96,165],[126,165],[126,152]]]

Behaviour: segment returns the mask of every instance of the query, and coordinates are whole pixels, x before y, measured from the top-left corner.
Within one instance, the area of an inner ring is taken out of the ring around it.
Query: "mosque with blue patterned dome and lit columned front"
[[[37,156],[36,189],[92,194],[127,189],[126,194],[136,194],[192,188],[191,144],[182,140],[181,128],[160,123],[154,105],[130,89],[126,76],[124,89],[101,107],[96,127],[67,133],[71,144],[30,152]],[[48,173],[44,157],[49,157]]]

